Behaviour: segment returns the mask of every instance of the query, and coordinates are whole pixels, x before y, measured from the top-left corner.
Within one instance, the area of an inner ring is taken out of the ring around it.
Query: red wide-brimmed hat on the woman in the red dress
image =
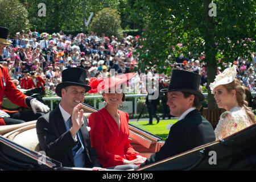
[[[103,92],[117,88],[118,85],[126,84],[128,80],[133,78],[137,73],[126,73],[122,75],[112,76],[110,78],[90,78],[89,86],[92,88],[88,93]]]

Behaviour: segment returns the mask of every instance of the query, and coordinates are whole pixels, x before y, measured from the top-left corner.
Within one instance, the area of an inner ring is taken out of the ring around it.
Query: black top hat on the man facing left
[[[180,91],[195,94],[200,101],[204,100],[204,95],[199,91],[201,76],[194,72],[173,69],[171,82],[168,89],[162,89],[161,92]]]

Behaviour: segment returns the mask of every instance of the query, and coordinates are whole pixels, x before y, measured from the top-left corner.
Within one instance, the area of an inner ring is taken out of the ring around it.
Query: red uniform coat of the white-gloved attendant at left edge
[[[11,81],[8,69],[0,65],[0,109],[3,101],[3,96],[9,98],[16,105],[27,107],[25,98],[27,97],[20,92],[14,83]],[[0,126],[5,125],[5,122],[0,118]]]

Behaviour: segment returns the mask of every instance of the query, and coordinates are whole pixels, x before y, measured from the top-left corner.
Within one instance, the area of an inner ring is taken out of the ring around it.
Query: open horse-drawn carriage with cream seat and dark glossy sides
[[[96,111],[85,105],[85,117]],[[0,169],[2,170],[94,170],[67,168],[48,158],[39,147],[36,121],[0,126]],[[163,140],[129,123],[130,143],[144,156],[160,150]],[[182,133],[180,134],[182,135]],[[137,169],[141,170],[255,170],[256,125],[223,140],[204,144],[192,150]],[[97,168],[97,170],[106,170]]]

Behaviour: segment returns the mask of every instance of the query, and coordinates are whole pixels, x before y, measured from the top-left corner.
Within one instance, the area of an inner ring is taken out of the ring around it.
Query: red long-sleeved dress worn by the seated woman
[[[122,165],[124,159],[133,160],[139,155],[128,139],[129,115],[121,110],[118,110],[118,113],[120,130],[105,108],[90,114],[89,117],[90,140],[103,167]]]

